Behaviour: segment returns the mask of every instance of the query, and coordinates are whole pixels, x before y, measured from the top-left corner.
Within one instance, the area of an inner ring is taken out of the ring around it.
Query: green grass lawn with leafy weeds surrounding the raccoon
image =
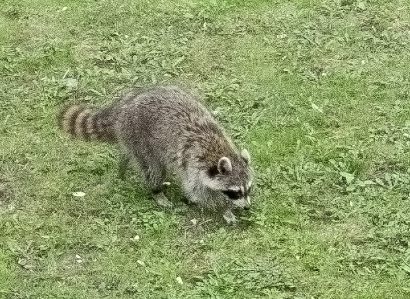
[[[0,298],[409,298],[409,68],[405,0],[0,2]],[[172,82],[251,153],[237,226],[58,129]]]

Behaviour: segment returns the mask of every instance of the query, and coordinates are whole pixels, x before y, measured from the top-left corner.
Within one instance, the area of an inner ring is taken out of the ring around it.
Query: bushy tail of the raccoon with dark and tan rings
[[[83,140],[114,141],[114,123],[110,111],[96,111],[83,105],[66,108],[59,117],[61,129]]]

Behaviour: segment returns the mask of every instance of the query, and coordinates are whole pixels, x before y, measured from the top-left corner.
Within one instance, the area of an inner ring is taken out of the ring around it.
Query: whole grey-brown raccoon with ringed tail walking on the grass
[[[212,114],[191,94],[174,86],[127,93],[106,109],[69,106],[60,116],[66,133],[83,140],[118,143],[125,155],[120,175],[134,159],[156,202],[167,173],[176,174],[188,200],[236,222],[233,209],[248,209],[253,175],[250,155],[240,153]]]

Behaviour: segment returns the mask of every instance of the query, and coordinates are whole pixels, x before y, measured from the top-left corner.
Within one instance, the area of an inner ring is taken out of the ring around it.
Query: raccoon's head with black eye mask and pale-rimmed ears
[[[253,177],[247,150],[243,150],[238,157],[221,157],[218,164],[209,169],[209,177],[212,189],[220,194],[229,207],[250,207]]]

